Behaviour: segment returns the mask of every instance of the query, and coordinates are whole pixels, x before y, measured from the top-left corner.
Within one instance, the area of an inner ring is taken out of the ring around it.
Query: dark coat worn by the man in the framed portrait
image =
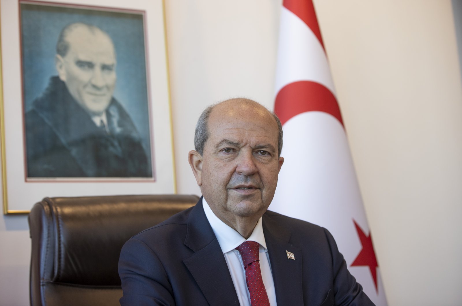
[[[52,77],[26,112],[28,177],[151,177],[140,135],[116,99],[106,115],[109,133]]]

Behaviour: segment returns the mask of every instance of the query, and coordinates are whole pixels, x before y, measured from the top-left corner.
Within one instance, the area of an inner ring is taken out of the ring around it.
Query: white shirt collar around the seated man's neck
[[[258,219],[257,224],[255,225],[254,230],[250,237],[246,240],[241,236],[236,230],[232,229],[229,225],[221,221],[212,211],[210,206],[204,197],[202,197],[202,206],[204,207],[204,212],[207,217],[210,226],[212,227],[213,233],[217,237],[218,243],[221,247],[223,254],[228,253],[234,250],[236,247],[240,246],[244,241],[255,241],[260,243],[262,247],[265,248],[267,252],[265,235],[263,235],[263,226],[261,225],[261,218]]]

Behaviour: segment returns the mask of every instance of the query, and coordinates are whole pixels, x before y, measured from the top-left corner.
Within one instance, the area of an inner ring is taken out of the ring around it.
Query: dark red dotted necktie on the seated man
[[[260,244],[255,241],[245,241],[236,250],[241,253],[245,269],[245,281],[250,293],[252,306],[269,306],[268,295],[261,279],[260,258],[258,249]]]

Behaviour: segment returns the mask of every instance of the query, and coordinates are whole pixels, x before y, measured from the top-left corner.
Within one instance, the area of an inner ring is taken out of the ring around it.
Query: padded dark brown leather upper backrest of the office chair
[[[44,213],[44,206],[49,206],[55,230],[51,233],[51,227],[42,228],[47,235],[54,235],[48,250],[54,256],[54,282],[120,285],[117,266],[125,241],[193,206],[198,199],[188,195],[45,198],[31,215],[36,209]]]

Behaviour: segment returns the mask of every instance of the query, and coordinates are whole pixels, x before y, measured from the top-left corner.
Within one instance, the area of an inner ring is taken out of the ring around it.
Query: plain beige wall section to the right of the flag
[[[461,305],[462,91],[451,3],[316,5],[389,304]]]

